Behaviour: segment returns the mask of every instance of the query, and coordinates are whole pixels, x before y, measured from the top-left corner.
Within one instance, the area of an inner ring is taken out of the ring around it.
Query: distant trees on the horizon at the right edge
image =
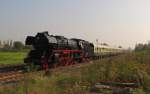
[[[135,46],[135,51],[150,50],[150,42],[147,44],[139,43]]]

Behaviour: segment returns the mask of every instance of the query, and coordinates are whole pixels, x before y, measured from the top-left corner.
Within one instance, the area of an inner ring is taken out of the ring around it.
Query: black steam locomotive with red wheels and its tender
[[[24,62],[39,65],[42,69],[81,63],[94,56],[92,43],[82,39],[49,35],[48,32],[28,36],[25,44],[32,45],[32,50]]]

